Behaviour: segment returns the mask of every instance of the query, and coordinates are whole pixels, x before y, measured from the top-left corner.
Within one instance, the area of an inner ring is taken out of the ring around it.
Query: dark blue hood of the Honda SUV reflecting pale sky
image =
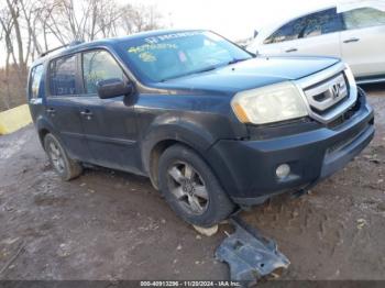
[[[235,93],[286,80],[297,80],[338,62],[339,59],[331,57],[257,57],[211,71],[160,82],[156,88]]]

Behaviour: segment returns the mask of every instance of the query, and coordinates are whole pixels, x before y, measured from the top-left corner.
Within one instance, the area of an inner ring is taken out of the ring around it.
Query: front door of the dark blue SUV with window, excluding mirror
[[[116,58],[106,49],[82,54],[84,95],[81,122],[92,155],[100,166],[139,173],[134,97],[100,99],[97,82],[112,78],[129,81]]]

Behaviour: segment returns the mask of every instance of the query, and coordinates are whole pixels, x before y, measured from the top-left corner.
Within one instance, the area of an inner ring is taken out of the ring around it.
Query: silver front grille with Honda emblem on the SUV
[[[319,122],[339,119],[358,99],[358,89],[350,70],[338,64],[298,80],[307,100],[309,115]]]

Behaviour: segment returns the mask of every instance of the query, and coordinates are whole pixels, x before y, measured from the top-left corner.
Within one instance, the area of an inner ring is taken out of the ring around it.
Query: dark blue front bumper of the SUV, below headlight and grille
[[[301,132],[300,124],[297,130],[292,124],[288,135],[280,135],[288,130],[283,126],[274,137],[222,140],[211,147],[207,158],[229,196],[242,207],[304,189],[341,169],[372,141],[373,109],[364,95],[358,106],[349,120],[333,128],[319,125]],[[278,178],[276,169],[283,164],[290,173]]]

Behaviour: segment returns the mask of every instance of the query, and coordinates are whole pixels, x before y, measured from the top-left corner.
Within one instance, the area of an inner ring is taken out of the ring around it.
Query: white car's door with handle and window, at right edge
[[[354,76],[385,76],[385,12],[360,8],[343,12],[342,18],[342,57]]]

